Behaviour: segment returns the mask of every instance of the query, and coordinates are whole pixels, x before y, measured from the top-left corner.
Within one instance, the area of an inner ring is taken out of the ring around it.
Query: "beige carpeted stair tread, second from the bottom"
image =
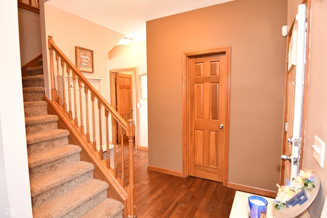
[[[33,209],[33,217],[62,217],[108,188],[101,180],[92,179],[64,195]]]

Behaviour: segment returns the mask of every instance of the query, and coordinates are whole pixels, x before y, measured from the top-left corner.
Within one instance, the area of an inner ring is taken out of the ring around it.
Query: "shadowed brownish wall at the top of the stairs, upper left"
[[[18,8],[20,63],[26,64],[42,53],[40,16]]]

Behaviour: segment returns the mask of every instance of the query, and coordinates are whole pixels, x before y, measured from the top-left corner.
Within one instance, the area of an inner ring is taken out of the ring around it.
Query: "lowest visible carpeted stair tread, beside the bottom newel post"
[[[121,213],[123,209],[124,204],[122,202],[107,198],[102,203],[98,204],[96,207],[81,216],[81,218],[119,217],[119,213]]]

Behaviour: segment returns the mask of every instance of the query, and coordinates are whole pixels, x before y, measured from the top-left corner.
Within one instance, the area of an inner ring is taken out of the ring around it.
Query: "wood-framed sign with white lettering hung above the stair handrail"
[[[93,51],[75,46],[76,67],[82,72],[94,72]]]

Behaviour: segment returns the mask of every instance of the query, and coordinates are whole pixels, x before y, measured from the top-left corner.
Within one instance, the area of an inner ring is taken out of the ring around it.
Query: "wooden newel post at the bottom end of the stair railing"
[[[135,136],[135,125],[133,119],[127,120],[126,136],[128,137],[129,145],[129,186],[127,188],[128,200],[127,201],[127,216],[136,217],[136,187],[134,185],[134,136]]]

